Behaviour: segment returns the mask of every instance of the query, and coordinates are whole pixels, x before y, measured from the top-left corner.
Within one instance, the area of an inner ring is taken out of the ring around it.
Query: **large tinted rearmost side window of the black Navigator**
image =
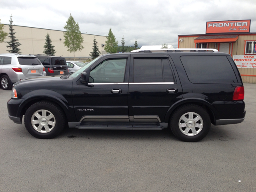
[[[182,56],[180,60],[192,83],[237,83],[226,56]]]

